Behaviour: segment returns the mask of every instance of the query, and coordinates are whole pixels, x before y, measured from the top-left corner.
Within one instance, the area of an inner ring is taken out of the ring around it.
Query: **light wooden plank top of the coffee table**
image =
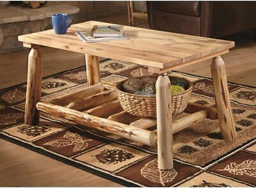
[[[72,25],[67,34],[54,34],[53,30],[19,36],[26,45],[35,44],[83,54],[97,55],[133,62],[151,68],[170,68],[194,62],[211,55],[221,55],[234,47],[233,41],[216,40],[199,36],[168,33],[138,27],[124,27],[128,40],[84,43],[75,31],[90,31],[93,25],[110,25],[88,21]]]

